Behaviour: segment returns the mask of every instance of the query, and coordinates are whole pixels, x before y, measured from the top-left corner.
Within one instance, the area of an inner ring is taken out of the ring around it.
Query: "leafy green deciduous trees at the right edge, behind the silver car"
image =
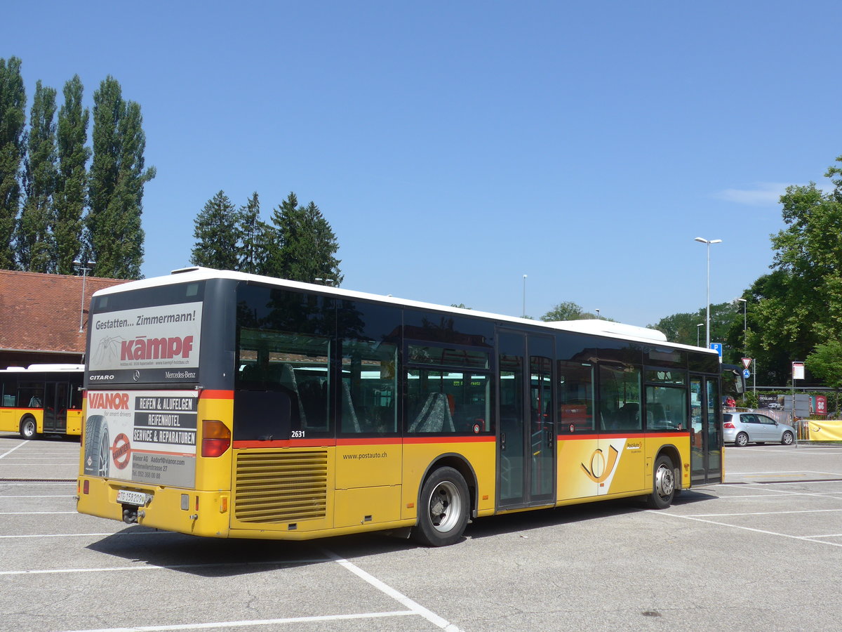
[[[770,235],[770,273],[732,303],[711,305],[711,340],[725,345],[724,362],[754,360],[758,385],[791,384],[792,362],[804,362],[800,385],[842,388],[842,156],[815,182],[781,195],[785,228]],[[742,299],[742,300],[741,300]],[[696,344],[705,308],[677,313],[650,325],[668,340]]]

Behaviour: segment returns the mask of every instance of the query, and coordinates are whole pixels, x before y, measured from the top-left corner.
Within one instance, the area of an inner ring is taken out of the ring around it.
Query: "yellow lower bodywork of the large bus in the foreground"
[[[584,437],[557,441],[556,498],[544,506],[650,494],[658,456],[672,458],[676,487],[690,487],[690,438]],[[499,510],[496,443],[437,440],[315,447],[232,448],[196,458],[195,489],[82,475],[78,511],[150,528],[216,538],[302,540],[413,527],[419,490],[440,465],[460,469],[472,517]],[[81,463],[80,463],[81,466]],[[83,471],[83,470],[80,470]],[[145,506],[117,501],[142,492]],[[136,517],[132,512],[136,510]]]

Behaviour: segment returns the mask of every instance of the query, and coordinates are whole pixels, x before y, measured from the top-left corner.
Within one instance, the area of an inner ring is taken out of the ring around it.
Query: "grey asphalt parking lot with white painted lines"
[[[78,442],[0,435],[0,629],[831,630],[842,446],[726,448],[726,483],[478,520],[424,549],[160,533],[75,511]]]

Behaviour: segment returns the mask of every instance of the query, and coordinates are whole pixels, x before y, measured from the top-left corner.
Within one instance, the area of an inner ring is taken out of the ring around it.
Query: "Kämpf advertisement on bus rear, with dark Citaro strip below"
[[[202,303],[93,314],[90,383],[178,383],[199,370]]]

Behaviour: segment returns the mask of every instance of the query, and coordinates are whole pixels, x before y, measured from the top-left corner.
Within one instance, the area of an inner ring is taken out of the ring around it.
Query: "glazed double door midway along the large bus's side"
[[[556,480],[553,340],[501,330],[498,348],[497,506],[552,505]]]

